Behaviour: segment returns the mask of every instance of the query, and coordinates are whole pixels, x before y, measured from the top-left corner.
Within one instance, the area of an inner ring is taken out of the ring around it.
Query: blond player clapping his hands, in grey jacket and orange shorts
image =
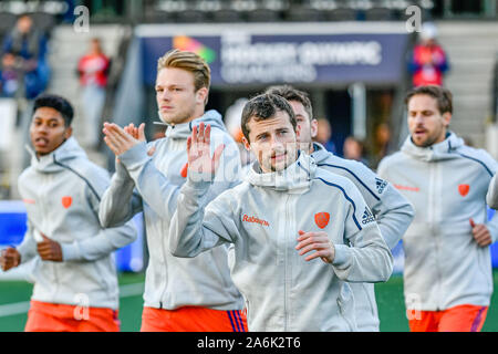
[[[238,183],[240,157],[217,111],[205,112],[210,71],[197,54],[172,50],[158,60],[156,101],[166,137],[145,142],[144,124],[124,129],[104,124],[104,142],[116,155],[116,173],[101,205],[103,226],[118,226],[144,211],[149,263],[145,278],[144,332],[242,332],[243,299],[230,279],[227,247],[196,259],[167,249],[169,223],[187,177],[187,137],[210,124],[225,144],[224,167],[207,200]]]

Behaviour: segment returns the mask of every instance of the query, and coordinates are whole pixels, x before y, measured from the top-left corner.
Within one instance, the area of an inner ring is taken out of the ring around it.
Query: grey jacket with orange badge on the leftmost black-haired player
[[[31,300],[116,310],[112,252],[133,242],[136,229],[133,221],[101,227],[98,202],[110,183],[107,171],[91,163],[73,137],[49,155],[32,155],[31,166],[19,177],[28,231],[18,248],[22,262],[35,258]],[[35,229],[61,244],[62,262],[40,258]]]

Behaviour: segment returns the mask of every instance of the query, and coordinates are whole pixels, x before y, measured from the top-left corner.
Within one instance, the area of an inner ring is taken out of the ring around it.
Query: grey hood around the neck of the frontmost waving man
[[[259,163],[255,162],[246,180],[253,186],[299,194],[310,188],[315,170],[317,164],[313,158],[299,152],[295,163],[276,173],[262,173]]]

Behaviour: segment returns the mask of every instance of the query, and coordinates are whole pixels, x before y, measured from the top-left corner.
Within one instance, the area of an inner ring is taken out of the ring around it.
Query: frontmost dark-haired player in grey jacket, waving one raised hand
[[[347,282],[386,281],[393,267],[375,218],[349,179],[299,154],[284,98],[253,97],[241,124],[257,162],[243,183],[209,204],[224,146],[216,145],[211,158],[211,127],[193,131],[172,252],[199,257],[231,244],[231,275],[247,301],[250,331],[356,331]]]

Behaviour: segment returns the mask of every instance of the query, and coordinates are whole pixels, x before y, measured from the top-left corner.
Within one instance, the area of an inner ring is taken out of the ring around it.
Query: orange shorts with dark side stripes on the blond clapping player
[[[239,310],[144,308],[141,332],[247,332],[247,321]]]

